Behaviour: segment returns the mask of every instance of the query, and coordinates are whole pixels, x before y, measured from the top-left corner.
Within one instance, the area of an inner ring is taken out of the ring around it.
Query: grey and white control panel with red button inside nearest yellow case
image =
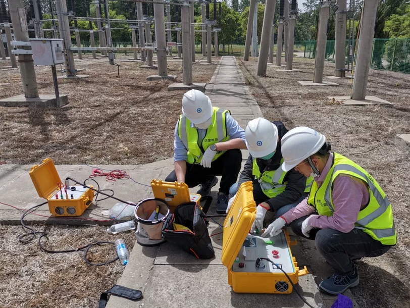
[[[261,237],[248,234],[232,265],[233,272],[246,273],[294,273],[291,253],[284,232],[274,237]],[[269,258],[280,268],[266,260],[258,258]]]

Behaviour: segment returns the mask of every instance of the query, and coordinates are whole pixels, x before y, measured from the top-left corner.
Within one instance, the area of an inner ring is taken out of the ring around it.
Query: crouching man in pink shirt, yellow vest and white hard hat
[[[294,168],[314,176],[314,182],[309,197],[265,233],[274,236],[291,223],[294,233],[315,240],[335,270],[319,288],[343,293],[359,283],[354,260],[382,255],[396,244],[391,204],[366,170],[330,152],[326,137],[311,128],[297,127],[283,136],[282,155],[284,171]]]

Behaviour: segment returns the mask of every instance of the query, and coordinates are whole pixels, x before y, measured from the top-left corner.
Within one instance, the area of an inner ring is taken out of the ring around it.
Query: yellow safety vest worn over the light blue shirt
[[[178,136],[181,138],[185,147],[188,149],[187,162],[189,164],[200,164],[203,153],[212,144],[217,142],[225,142],[229,140],[226,132],[226,114],[228,110],[222,110],[214,107],[212,114],[212,125],[208,127],[207,134],[203,138],[201,144],[198,144],[198,131],[195,127],[191,127],[189,121],[184,115],[179,116]],[[218,159],[225,151],[218,151],[212,161]]]

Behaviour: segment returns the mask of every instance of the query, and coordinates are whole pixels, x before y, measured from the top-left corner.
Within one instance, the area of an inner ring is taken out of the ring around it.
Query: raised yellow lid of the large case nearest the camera
[[[256,216],[253,185],[242,183],[224,221],[222,264],[230,268],[252,227]]]

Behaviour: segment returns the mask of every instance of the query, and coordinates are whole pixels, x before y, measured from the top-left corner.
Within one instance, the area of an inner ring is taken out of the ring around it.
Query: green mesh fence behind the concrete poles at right
[[[354,42],[354,48],[355,48]],[[316,57],[316,40],[296,41],[295,49],[303,52],[304,58]],[[346,61],[349,55],[346,40]],[[335,41],[326,43],[327,61],[335,61]],[[410,74],[410,38],[375,38],[373,41],[371,68]]]

